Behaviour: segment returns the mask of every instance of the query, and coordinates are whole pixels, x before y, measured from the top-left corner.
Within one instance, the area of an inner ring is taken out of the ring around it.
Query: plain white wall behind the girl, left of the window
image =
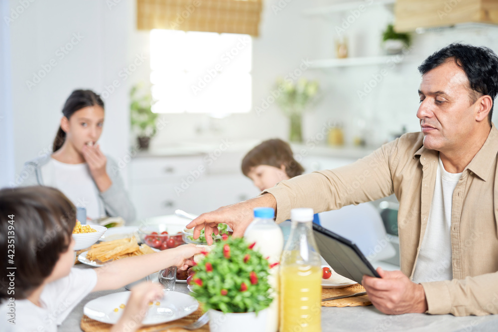
[[[114,80],[120,87],[105,99],[106,121],[100,142],[112,157],[125,155],[131,80],[123,81],[119,72],[134,60],[128,52],[133,2],[121,1],[109,8],[100,0],[34,1],[10,22],[17,172],[25,161],[51,147],[62,106],[72,90],[86,88],[100,93]],[[9,11],[18,6],[18,1],[11,0]],[[60,50],[66,45],[67,54]],[[56,65],[51,66],[50,61]],[[35,86],[28,87],[26,81],[33,81],[33,75],[40,71],[41,75],[47,73]]]

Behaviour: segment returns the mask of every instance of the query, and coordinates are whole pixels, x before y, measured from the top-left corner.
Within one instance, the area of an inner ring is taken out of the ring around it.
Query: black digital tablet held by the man
[[[316,223],[313,233],[320,254],[335,272],[360,284],[364,275],[380,278],[355,243]]]

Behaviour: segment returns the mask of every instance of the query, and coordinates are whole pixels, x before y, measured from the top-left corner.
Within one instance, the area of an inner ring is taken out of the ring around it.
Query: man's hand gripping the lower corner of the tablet
[[[362,284],[375,308],[387,315],[425,313],[424,288],[408,279],[401,271],[377,268],[380,278],[363,276]]]

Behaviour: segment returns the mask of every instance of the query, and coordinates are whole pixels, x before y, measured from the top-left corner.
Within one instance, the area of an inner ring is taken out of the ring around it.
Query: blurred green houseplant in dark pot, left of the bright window
[[[140,149],[147,149],[150,139],[156,134],[157,114],[152,112],[152,96],[144,90],[143,84],[137,84],[129,93],[131,128],[137,133]]]

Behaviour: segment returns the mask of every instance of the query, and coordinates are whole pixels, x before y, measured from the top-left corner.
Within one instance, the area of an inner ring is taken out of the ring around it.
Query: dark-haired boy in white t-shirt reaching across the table
[[[193,264],[189,258],[202,250],[182,245],[114,261],[105,268],[73,268],[74,212],[74,205],[54,188],[0,190],[0,251],[5,255],[0,270],[7,276],[0,285],[0,331],[57,331],[90,292],[117,289],[168,266],[186,269]],[[159,285],[136,286],[113,330],[137,329],[147,303],[159,297]]]

